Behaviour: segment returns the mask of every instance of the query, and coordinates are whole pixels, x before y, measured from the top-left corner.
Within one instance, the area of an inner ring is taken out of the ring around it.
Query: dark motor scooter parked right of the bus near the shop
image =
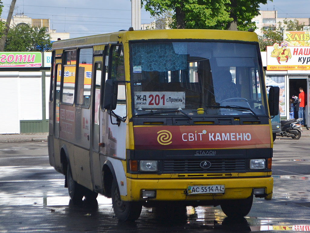
[[[301,137],[301,132],[303,132],[303,128],[301,127],[301,122],[303,119],[288,119],[281,120],[281,132],[277,133],[277,136],[281,137],[291,137],[295,140],[298,140]]]

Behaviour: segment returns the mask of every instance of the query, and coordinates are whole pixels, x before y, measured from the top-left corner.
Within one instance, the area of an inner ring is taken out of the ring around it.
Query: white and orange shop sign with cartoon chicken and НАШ
[[[310,70],[310,46],[288,46],[286,41],[267,46],[267,70]]]

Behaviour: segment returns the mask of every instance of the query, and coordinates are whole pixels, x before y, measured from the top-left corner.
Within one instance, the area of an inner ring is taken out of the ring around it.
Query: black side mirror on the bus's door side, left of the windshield
[[[105,81],[103,107],[107,110],[115,110],[117,104],[117,83],[112,79]]]

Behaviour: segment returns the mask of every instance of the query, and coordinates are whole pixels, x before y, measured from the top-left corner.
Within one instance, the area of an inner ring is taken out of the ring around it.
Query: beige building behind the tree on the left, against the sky
[[[1,19],[3,22],[6,22],[6,19]],[[60,38],[62,40],[69,39],[70,33],[69,32],[56,32],[56,30],[53,30],[50,28],[50,19],[32,19],[24,14],[16,14],[11,19],[10,28],[17,26],[27,24],[32,27],[46,27],[47,32],[51,35],[51,41],[57,41],[57,38]]]

